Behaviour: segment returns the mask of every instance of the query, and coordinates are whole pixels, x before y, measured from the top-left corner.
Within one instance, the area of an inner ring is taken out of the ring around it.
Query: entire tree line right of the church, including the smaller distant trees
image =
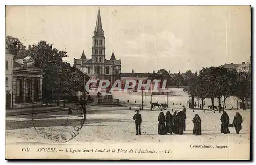
[[[150,74],[149,79],[167,80],[167,86],[184,85],[184,91],[194,98],[201,99],[202,109],[204,99],[211,99],[212,107],[214,107],[214,99],[218,98],[220,108],[221,98],[223,98],[223,109],[225,101],[230,96],[238,97],[241,102],[247,105],[247,101],[251,95],[251,75],[246,72],[237,72],[236,69],[227,69],[225,67],[209,67],[193,73],[188,70],[185,73],[171,74],[164,69]],[[243,109],[246,109],[246,106]]]

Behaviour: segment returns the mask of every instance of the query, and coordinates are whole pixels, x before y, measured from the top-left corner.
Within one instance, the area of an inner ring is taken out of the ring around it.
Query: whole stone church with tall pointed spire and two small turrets
[[[120,79],[121,60],[116,60],[114,51],[110,59],[106,59],[105,37],[102,29],[100,10],[98,10],[92,39],[92,58],[87,59],[83,51],[80,59],[74,58],[74,66],[89,75],[90,79],[108,79],[113,84],[116,79]]]

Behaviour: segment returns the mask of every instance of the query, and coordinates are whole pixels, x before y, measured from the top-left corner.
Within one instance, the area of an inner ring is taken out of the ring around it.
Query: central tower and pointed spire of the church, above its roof
[[[98,10],[98,16],[93,36],[92,46],[92,60],[93,63],[104,63],[105,60],[105,37],[102,29],[100,10]]]

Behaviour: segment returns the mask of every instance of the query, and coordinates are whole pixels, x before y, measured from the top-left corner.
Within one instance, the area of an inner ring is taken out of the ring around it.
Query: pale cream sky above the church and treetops
[[[91,58],[100,7],[106,59],[122,72],[171,73],[241,64],[251,56],[249,6],[7,6],[6,35],[25,46],[45,40],[73,65]]]

